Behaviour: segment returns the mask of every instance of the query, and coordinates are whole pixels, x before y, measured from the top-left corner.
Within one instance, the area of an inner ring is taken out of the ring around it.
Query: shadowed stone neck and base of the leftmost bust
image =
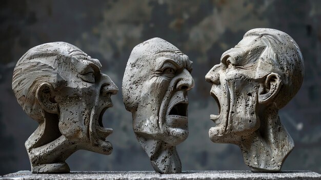
[[[76,151],[58,129],[58,117],[43,112],[44,121],[25,143],[33,173],[69,172],[65,160]]]

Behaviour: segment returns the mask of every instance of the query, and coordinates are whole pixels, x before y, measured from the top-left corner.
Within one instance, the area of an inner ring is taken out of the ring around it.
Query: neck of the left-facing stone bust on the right
[[[293,139],[280,123],[278,110],[259,113],[260,128],[240,143],[245,163],[253,172],[277,172],[294,147]]]

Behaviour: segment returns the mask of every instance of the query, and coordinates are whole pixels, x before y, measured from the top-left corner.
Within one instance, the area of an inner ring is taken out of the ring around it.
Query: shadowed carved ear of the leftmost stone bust
[[[36,91],[40,106],[49,113],[58,113],[58,105],[54,101],[54,88],[50,83],[42,83]]]

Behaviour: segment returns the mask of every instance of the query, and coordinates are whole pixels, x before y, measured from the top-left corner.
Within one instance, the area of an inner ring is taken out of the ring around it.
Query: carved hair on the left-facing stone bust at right
[[[257,36],[267,45],[260,57],[272,64],[282,79],[282,87],[275,97],[278,109],[283,108],[297,93],[303,82],[304,62],[298,45],[287,33],[275,29],[252,29],[244,37]]]

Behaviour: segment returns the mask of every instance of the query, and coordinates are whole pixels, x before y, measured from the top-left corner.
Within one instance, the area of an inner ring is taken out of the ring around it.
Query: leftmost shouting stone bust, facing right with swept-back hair
[[[61,173],[65,160],[85,149],[110,154],[102,117],[118,89],[101,63],[77,47],[54,42],[36,46],[17,62],[12,89],[38,128],[25,143],[33,173]]]

